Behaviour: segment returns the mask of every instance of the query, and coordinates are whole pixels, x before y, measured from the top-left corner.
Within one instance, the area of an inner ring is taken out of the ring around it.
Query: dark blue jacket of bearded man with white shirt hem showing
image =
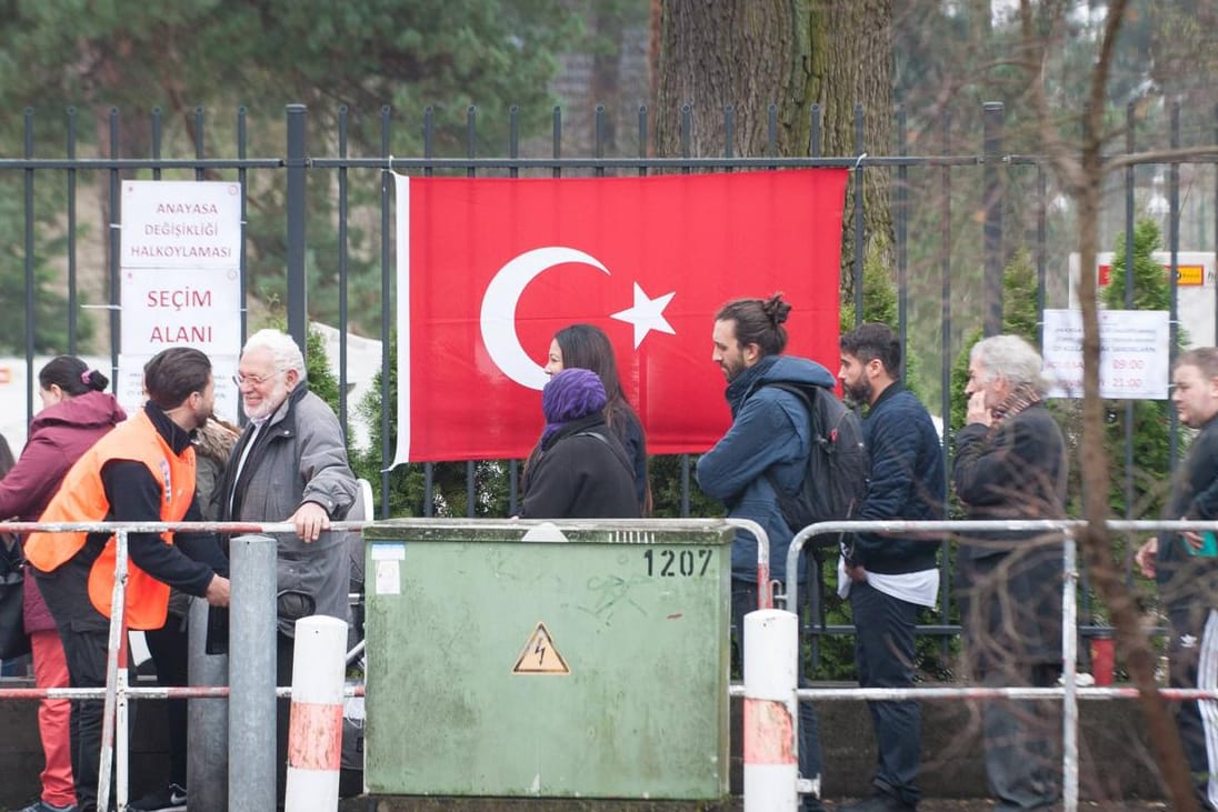
[[[871,457],[871,477],[856,519],[943,519],[948,487],[943,446],[926,407],[903,383],[881,392],[862,421],[862,441]],[[860,533],[854,560],[868,572],[920,572],[934,569],[935,550],[938,539]]]

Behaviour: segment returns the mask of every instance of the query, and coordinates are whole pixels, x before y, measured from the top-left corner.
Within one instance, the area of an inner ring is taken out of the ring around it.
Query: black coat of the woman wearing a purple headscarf
[[[637,519],[635,474],[599,414],[546,438],[525,471],[521,519]]]

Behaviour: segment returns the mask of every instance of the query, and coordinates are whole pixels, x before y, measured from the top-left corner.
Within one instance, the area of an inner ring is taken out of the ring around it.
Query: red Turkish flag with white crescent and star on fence
[[[636,178],[407,178],[397,187],[395,464],[519,459],[574,323],[613,342],[648,452],[727,429],[710,359],[727,301],[783,291],[787,352],[837,369],[845,169]]]

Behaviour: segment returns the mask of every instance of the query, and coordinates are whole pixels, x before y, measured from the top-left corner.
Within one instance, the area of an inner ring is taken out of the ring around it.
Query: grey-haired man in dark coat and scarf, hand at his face
[[[952,482],[967,519],[1061,519],[1066,441],[1043,403],[1040,354],[1018,336],[991,336],[968,357],[967,425],[956,435]],[[1062,671],[1060,537],[1004,531],[961,542],[960,616],[973,676],[985,685],[1046,688]],[[985,772],[998,810],[1033,810],[1061,795],[1061,705],[987,701]]]

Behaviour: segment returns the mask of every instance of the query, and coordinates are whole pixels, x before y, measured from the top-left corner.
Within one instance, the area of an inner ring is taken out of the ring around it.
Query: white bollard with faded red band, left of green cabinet
[[[342,690],[347,625],[314,615],[296,621],[285,812],[333,812],[342,768]]]

